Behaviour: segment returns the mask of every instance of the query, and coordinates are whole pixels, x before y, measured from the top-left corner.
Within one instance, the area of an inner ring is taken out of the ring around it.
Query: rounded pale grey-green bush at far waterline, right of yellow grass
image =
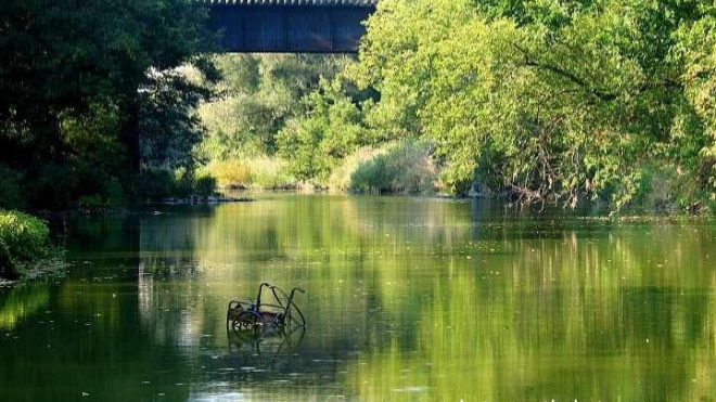
[[[431,193],[437,169],[430,151],[430,144],[412,141],[393,143],[378,151],[359,151],[346,158],[332,174],[331,182],[338,190],[362,193]]]

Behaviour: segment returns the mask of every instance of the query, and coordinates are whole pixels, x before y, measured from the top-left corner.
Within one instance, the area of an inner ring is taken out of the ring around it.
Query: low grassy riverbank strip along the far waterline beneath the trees
[[[270,163],[267,160],[270,159]],[[295,192],[440,196],[497,199],[514,207],[599,207],[612,211],[644,210],[701,215],[714,209],[698,178],[676,174],[666,168],[642,167],[639,185],[628,202],[615,202],[609,194],[586,192],[539,193],[530,187],[489,185],[490,178],[475,178],[469,189],[447,189],[445,172],[425,143],[393,143],[380,148],[361,148],[346,157],[323,178],[296,179],[291,164],[278,157],[214,161],[202,174],[215,179],[223,192]],[[257,179],[260,178],[260,179]],[[180,203],[181,204],[181,203]],[[184,203],[191,204],[191,203]]]

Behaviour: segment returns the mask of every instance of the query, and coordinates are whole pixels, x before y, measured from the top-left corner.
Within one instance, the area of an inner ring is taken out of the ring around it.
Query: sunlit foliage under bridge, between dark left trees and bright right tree
[[[312,91],[322,90],[321,82],[329,82],[348,57],[227,54],[215,61],[223,75],[217,86],[220,96],[200,108],[208,135],[195,154],[208,160],[201,170],[215,177],[220,186],[292,187],[298,179],[314,178],[319,171],[324,177],[334,160],[353,150],[345,143],[355,134],[343,129],[349,119],[345,114],[357,115],[349,102],[341,104],[348,109],[334,119],[341,126],[332,127],[329,135],[321,130],[330,124],[304,120],[312,102],[322,101],[310,95]],[[327,137],[334,142],[323,147],[332,151],[330,159],[315,155],[312,148]]]

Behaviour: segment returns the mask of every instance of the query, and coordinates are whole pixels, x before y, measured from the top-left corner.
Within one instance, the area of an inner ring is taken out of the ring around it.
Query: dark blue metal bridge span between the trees
[[[355,53],[379,0],[200,0],[233,53]]]

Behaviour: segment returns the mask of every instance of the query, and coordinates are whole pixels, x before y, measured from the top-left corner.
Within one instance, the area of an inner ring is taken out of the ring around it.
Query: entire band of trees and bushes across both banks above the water
[[[215,182],[703,202],[715,8],[384,0],[356,60],[204,56],[206,10],[183,0],[3,2],[0,207],[102,208]]]

